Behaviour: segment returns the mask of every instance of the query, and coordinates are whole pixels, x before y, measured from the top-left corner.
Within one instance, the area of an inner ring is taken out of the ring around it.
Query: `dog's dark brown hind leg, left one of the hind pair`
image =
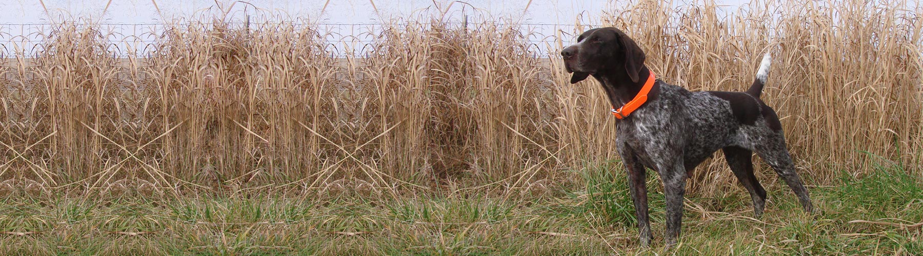
[[[747,188],[750,198],[753,199],[753,214],[760,217],[766,206],[766,190],[753,175],[753,159],[750,157],[753,152],[738,146],[727,146],[724,151],[727,165],[734,172],[734,176],[737,176],[740,184]]]

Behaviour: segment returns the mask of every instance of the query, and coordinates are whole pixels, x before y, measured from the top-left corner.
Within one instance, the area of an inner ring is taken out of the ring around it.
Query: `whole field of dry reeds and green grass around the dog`
[[[331,48],[303,20],[215,17],[123,58],[75,20],[0,58],[0,254],[923,254],[923,6],[716,8],[638,1],[596,24],[690,90],[743,90],[772,52],[762,99],[818,213],[760,164],[753,218],[716,153],[675,250],[649,171],[640,248],[605,95],[524,25],[435,11]]]

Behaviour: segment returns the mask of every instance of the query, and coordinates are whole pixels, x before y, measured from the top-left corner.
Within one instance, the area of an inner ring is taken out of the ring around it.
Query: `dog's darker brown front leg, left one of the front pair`
[[[647,210],[647,183],[645,180],[646,172],[644,166],[638,161],[637,156],[633,153],[623,154],[622,161],[625,163],[625,169],[629,174],[629,191],[631,192],[631,201],[635,205],[635,218],[638,220],[638,239],[641,246],[647,247],[651,244],[653,234],[651,234],[651,222],[648,218]]]

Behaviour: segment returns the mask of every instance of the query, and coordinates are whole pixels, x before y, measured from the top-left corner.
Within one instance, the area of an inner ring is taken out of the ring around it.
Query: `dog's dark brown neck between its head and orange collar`
[[[612,103],[613,108],[619,108],[634,99],[638,92],[641,91],[641,87],[644,87],[644,83],[647,82],[649,76],[651,76],[651,71],[647,69],[647,66],[641,67],[641,72],[638,73],[638,82],[632,82],[631,77],[622,70],[593,74],[593,78],[596,78],[603,85],[605,94],[609,97],[609,102]],[[652,101],[658,91],[655,84],[651,92],[648,93],[648,101]]]

